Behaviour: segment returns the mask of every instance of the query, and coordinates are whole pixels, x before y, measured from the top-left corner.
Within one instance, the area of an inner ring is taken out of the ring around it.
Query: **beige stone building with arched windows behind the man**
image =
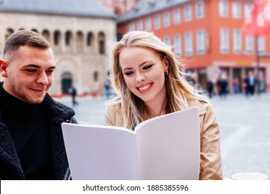
[[[35,30],[50,42],[56,70],[50,94],[102,93],[109,75],[116,15],[94,0],[8,0],[0,3],[0,55],[17,30]],[[0,78],[3,80],[3,78]]]

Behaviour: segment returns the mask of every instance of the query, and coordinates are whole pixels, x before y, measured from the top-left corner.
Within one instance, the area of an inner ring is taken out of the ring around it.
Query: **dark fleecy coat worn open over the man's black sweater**
[[[0,82],[0,89],[3,83]],[[0,99],[1,100],[1,99]],[[64,179],[69,173],[69,164],[64,147],[61,123],[68,121],[77,123],[73,118],[75,112],[70,107],[66,107],[56,102],[46,94],[42,106],[46,110],[48,122],[51,126],[51,148],[53,155],[53,168],[55,179]],[[0,179],[25,179],[15,144],[13,143],[8,129],[3,123],[0,109]]]

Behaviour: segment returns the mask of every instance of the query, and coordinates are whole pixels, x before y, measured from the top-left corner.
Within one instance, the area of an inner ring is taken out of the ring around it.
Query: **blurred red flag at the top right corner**
[[[270,0],[254,0],[251,15],[242,28],[244,35],[270,35]]]

